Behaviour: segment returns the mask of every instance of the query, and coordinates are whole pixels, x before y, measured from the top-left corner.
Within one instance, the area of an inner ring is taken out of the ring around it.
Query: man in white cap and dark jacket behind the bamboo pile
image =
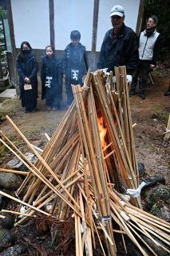
[[[97,67],[114,72],[115,66],[126,66],[127,74],[132,74],[138,62],[136,34],[125,26],[124,7],[113,6],[110,18],[113,29],[105,34]]]

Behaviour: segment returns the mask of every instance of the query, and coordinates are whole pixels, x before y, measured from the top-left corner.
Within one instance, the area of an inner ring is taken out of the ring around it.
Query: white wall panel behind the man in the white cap
[[[97,30],[97,50],[101,50],[101,43],[107,30],[112,28],[110,21],[110,10],[113,6],[121,5],[125,8],[125,25],[136,30],[136,22],[140,6],[140,0],[100,0],[98,30]]]

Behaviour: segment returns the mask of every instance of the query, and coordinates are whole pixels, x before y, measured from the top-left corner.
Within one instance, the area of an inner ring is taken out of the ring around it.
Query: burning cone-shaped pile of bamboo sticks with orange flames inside
[[[117,255],[115,234],[121,234],[125,251],[128,236],[141,254],[150,255],[144,250],[147,247],[156,255],[142,235],[168,251],[170,225],[141,210],[140,197],[128,201],[125,195],[128,188],[137,189],[139,177],[125,66],[116,68],[115,74],[116,83],[112,74],[105,76],[97,70],[87,74],[83,87],[73,86],[74,102],[42,154],[6,116],[37,156],[35,164],[1,132],[0,141],[30,170],[17,197],[0,191],[19,203],[14,214],[21,214],[21,206],[27,207],[17,224],[36,211],[59,220],[72,216],[77,256],[93,255],[97,239],[103,255]],[[42,210],[47,205],[50,210]]]

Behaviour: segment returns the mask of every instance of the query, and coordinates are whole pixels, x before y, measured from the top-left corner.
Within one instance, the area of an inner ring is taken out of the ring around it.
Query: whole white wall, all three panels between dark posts
[[[97,50],[111,26],[110,10],[114,5],[125,8],[125,24],[136,30],[140,0],[100,0]],[[49,0],[11,0],[16,47],[22,41],[30,42],[34,49],[45,49],[50,43]],[[54,0],[55,48],[64,50],[70,42],[71,30],[81,32],[81,43],[92,49],[94,0]]]

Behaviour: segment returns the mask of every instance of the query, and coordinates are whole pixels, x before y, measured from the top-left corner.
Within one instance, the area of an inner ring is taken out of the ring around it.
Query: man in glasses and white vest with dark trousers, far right
[[[145,86],[150,70],[156,66],[156,59],[160,50],[160,33],[156,31],[158,18],[156,15],[150,16],[146,21],[146,29],[139,37],[139,64],[132,75],[131,89],[129,96],[136,94],[137,80],[140,77],[140,98],[145,99]]]

